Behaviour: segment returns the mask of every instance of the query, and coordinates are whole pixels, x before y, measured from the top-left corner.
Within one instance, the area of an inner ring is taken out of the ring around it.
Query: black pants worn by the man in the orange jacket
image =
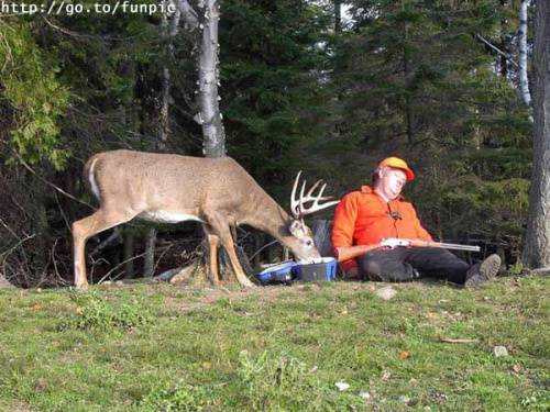
[[[436,278],[463,285],[469,268],[469,264],[449,250],[433,247],[398,247],[369,253],[361,258],[365,279],[389,282]]]

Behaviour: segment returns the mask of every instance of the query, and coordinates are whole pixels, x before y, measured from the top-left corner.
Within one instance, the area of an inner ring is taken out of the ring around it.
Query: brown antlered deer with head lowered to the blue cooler
[[[75,286],[88,289],[85,247],[91,236],[132,219],[178,223],[197,221],[209,244],[211,280],[219,285],[218,245],[228,253],[231,268],[243,287],[254,285],[246,277],[235,253],[232,232],[248,224],[266,232],[302,260],[319,258],[311,230],[304,218],[338,204],[317,193],[317,181],[306,193],[304,180],[296,196],[301,171],[290,194],[292,214],[277,204],[246,170],[231,157],[205,158],[133,151],[99,153],[84,168],[86,188],[99,200],[99,209],[73,223]],[[324,202],[324,203],[320,203]]]

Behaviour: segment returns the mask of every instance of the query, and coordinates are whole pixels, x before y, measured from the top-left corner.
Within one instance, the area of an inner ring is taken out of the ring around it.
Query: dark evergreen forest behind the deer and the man
[[[219,1],[224,149],[287,210],[300,169],[341,197],[367,183],[382,158],[402,156],[418,177],[405,194],[430,233],[497,252],[513,267],[532,158],[519,4]],[[81,179],[89,156],[204,155],[199,32],[161,12],[2,14],[0,274],[12,283],[70,283],[70,223],[91,213]],[[109,233],[90,241],[95,277],[157,275],[200,238],[189,224],[155,229],[153,268],[144,223],[125,225],[105,248]],[[249,229],[239,235],[249,256],[270,242]]]

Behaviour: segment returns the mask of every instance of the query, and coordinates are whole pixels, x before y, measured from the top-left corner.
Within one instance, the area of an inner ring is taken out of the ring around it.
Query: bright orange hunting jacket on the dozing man
[[[403,197],[386,203],[369,186],[344,196],[336,210],[332,226],[336,256],[338,247],[377,244],[388,237],[432,241],[420,224],[413,204]],[[355,259],[346,260],[340,266],[346,271],[358,263]]]

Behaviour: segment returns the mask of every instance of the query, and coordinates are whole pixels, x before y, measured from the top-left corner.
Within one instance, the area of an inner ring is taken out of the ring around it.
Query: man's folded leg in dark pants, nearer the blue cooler
[[[418,271],[405,261],[406,248],[367,253],[361,259],[363,277],[369,280],[404,282],[418,279]]]

